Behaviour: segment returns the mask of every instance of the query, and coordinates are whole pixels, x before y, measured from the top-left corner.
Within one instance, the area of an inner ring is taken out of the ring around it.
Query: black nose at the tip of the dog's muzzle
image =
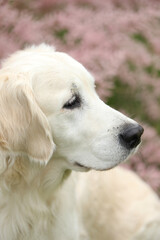
[[[140,125],[128,125],[123,128],[122,133],[119,134],[120,143],[127,149],[137,147],[141,142],[141,136],[144,129]]]

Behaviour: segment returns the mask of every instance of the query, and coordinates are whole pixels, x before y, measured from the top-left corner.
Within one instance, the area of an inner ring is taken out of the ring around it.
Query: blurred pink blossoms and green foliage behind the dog
[[[160,1],[0,0],[0,60],[42,42],[83,63],[100,97],[144,126],[124,165],[160,195]]]

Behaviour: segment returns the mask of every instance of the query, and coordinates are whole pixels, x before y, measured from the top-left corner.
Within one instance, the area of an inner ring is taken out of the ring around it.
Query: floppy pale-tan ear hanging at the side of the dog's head
[[[24,75],[0,76],[0,172],[19,154],[45,164],[55,145]]]

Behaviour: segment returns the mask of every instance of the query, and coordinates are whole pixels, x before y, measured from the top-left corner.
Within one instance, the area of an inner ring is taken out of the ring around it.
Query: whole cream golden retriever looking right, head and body
[[[9,57],[0,71],[0,240],[159,240],[149,186],[119,167],[95,171],[127,159],[142,133],[67,54],[41,44]]]

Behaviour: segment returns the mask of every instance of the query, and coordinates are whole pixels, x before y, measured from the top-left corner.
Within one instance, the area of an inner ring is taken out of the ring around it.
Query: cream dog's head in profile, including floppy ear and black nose
[[[99,99],[80,63],[44,44],[4,62],[0,106],[1,171],[19,154],[42,164],[53,155],[73,170],[110,169],[136,150],[143,133]]]

